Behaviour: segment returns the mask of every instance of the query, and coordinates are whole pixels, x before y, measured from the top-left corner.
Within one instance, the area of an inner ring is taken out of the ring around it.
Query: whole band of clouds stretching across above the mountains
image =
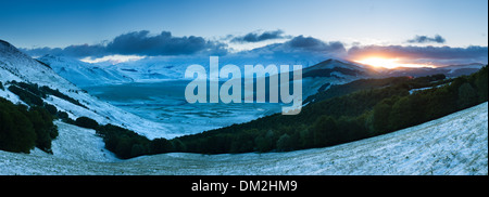
[[[268,31],[251,36],[248,40],[273,39],[283,36],[281,30]],[[275,36],[274,36],[275,35]],[[244,36],[246,37],[246,36]],[[243,39],[244,39],[243,37]],[[253,38],[252,38],[253,37]],[[236,37],[229,37],[236,38]],[[424,38],[416,36],[417,41],[444,42],[441,36]],[[413,41],[415,40],[413,39]],[[45,54],[66,55],[74,57],[100,57],[112,54],[124,55],[220,55],[228,54],[227,45],[218,41],[205,40],[202,37],[175,37],[168,31],[150,35],[149,31],[134,31],[123,34],[100,44],[82,44],[61,48],[23,49],[33,56]],[[317,56],[347,60],[362,60],[372,56],[400,58],[411,63],[431,63],[439,65],[484,63],[488,62],[488,47],[472,45],[467,48],[450,47],[403,47],[403,45],[353,45],[349,50],[339,41],[323,41],[313,37],[297,36],[283,43],[273,43],[236,55],[251,57],[281,56]]]

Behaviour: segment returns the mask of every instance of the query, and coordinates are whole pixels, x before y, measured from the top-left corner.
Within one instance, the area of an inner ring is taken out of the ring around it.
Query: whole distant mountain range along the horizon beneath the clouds
[[[315,78],[313,83],[343,83],[360,78],[422,77],[443,74],[447,77],[468,75],[480,69],[484,65],[474,63],[451,65],[446,67],[400,67],[396,69],[379,68],[346,60],[327,58],[311,54],[281,53],[236,53],[218,57],[220,68],[233,64],[241,69],[244,65],[302,65],[303,78]],[[77,87],[103,86],[127,82],[155,82],[162,80],[184,79],[185,70],[190,65],[201,65],[209,71],[210,56],[179,55],[179,56],[148,56],[137,61],[123,62],[112,65],[108,62],[85,63],[72,57],[45,55],[38,58],[46,66],[51,67],[58,75],[75,83]],[[330,81],[325,81],[330,80]],[[319,80],[319,81],[317,81]]]

